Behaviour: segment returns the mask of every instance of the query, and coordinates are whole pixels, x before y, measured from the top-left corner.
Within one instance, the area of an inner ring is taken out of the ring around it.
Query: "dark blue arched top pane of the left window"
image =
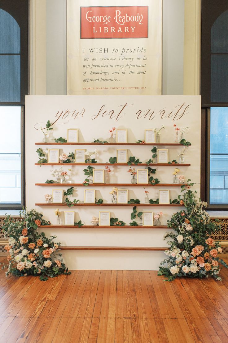
[[[20,28],[8,12],[0,9],[0,54],[20,53]]]

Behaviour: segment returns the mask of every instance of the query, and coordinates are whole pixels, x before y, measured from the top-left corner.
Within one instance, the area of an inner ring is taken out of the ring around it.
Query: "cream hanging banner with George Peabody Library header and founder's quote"
[[[68,95],[161,94],[162,1],[122,4],[67,0]]]

